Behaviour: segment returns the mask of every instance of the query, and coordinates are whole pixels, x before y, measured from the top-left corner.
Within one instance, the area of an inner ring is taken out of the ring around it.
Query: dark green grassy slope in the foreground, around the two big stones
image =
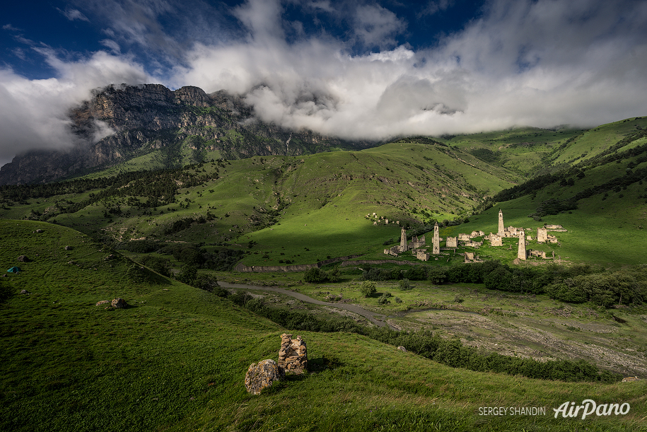
[[[0,305],[1,430],[644,430],[644,380],[473,373],[354,334],[305,332],[311,372],[248,395],[247,366],[276,359],[289,329],[133,267],[69,228],[1,221],[0,230],[0,262],[23,270],[2,283],[30,291]],[[33,261],[17,262],[19,255]],[[131,307],[95,305],[117,296]],[[559,405],[583,399],[631,410],[554,418]],[[545,414],[482,416],[481,407],[544,407]]]

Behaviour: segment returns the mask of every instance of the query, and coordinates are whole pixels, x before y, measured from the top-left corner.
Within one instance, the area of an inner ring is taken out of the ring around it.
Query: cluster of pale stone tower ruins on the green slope
[[[375,218],[377,216],[373,214]],[[388,223],[388,219],[382,218],[385,223]],[[400,222],[396,222],[400,223]],[[376,224],[376,223],[375,223]],[[537,236],[535,240],[537,243],[558,243],[557,238],[550,234],[550,231],[566,231],[561,225],[544,225],[543,227],[537,228]],[[518,250],[517,250],[517,259],[526,260],[531,257],[542,258],[542,259],[554,259],[555,253],[552,253],[552,257],[548,257],[546,252],[542,250],[532,250],[527,247],[527,242],[532,241],[532,228],[516,228],[514,226],[506,227],[503,224],[503,211],[499,210],[499,230],[496,234],[489,233],[485,235],[483,231],[472,231],[470,234],[460,233],[456,237],[447,237],[445,239],[441,238],[438,231],[438,223],[433,226],[433,240],[431,243],[431,253],[428,252],[428,246],[426,245],[426,238],[424,235],[420,237],[412,236],[410,240],[407,240],[407,230],[402,228],[400,232],[400,245],[390,247],[385,249],[384,253],[386,255],[392,255],[397,257],[402,252],[411,251],[417,259],[421,261],[429,261],[430,257],[438,255],[443,255],[451,252],[455,254],[458,247],[474,247],[478,249],[483,245],[485,241],[489,241],[490,246],[493,247],[502,247],[503,238],[517,238],[518,239]],[[481,240],[477,240],[481,238]],[[441,247],[441,242],[445,241],[445,247]],[[477,257],[474,252],[462,252],[462,255],[465,256],[465,262],[478,262],[479,257]]]

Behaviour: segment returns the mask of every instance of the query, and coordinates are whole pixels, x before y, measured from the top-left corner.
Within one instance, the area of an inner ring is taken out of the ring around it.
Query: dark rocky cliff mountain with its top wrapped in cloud
[[[264,124],[240,97],[223,91],[208,95],[191,86],[176,91],[161,84],[108,86],[69,117],[78,138],[73,148],[16,156],[0,168],[0,185],[59,180],[151,151],[161,151],[165,166],[174,168],[187,162],[187,154],[199,162],[209,151],[237,159],[373,145]]]

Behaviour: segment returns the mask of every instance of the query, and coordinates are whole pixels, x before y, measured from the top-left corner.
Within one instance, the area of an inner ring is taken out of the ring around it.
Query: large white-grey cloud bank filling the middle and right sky
[[[497,0],[439,47],[356,57],[330,38],[288,45],[267,30],[279,20],[273,7],[264,25],[251,18],[260,13],[247,10],[248,40],[197,45],[173,82],[224,88],[244,95],[264,121],[351,139],[593,126],[645,114],[647,15],[633,2],[620,26],[616,6],[596,1]],[[361,10],[370,13],[359,33],[375,17],[392,24],[367,32],[367,42],[388,40],[400,28],[382,8]]]

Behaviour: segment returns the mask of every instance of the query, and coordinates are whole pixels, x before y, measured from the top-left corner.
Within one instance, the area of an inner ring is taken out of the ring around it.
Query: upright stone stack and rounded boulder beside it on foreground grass
[[[245,388],[249,393],[260,395],[265,387],[284,379],[286,371],[298,374],[303,373],[307,367],[308,352],[305,349],[305,341],[301,336],[292,339],[291,334],[281,334],[279,363],[274,360],[252,363],[245,374]]]

